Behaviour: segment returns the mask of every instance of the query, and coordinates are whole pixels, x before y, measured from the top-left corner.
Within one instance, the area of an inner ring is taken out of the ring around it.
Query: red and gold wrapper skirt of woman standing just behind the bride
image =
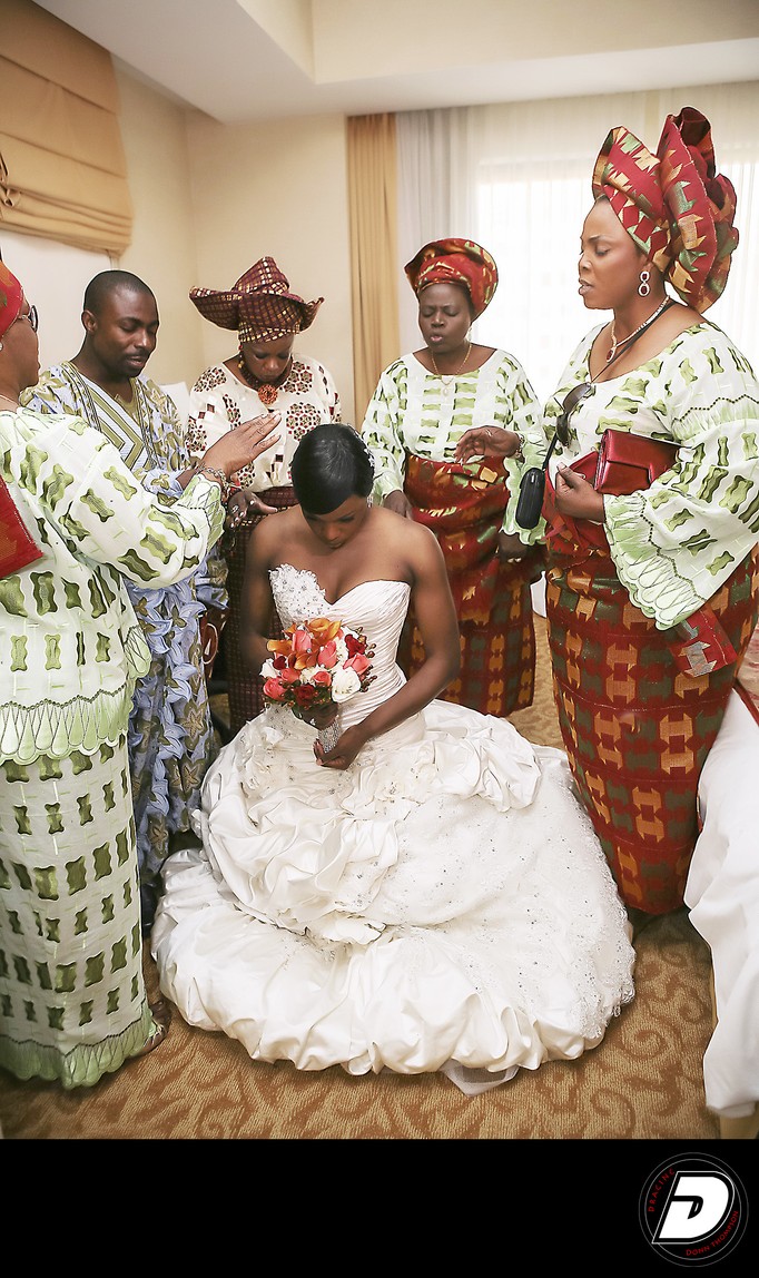
[[[493,458],[464,469],[408,455],[404,491],[417,521],[437,537],[459,617],[461,672],[441,699],[500,717],[525,709],[535,686],[530,583],[543,558],[539,550],[514,564],[496,556],[509,500],[503,466]],[[424,644],[409,612],[399,665],[409,677],[423,662]]]

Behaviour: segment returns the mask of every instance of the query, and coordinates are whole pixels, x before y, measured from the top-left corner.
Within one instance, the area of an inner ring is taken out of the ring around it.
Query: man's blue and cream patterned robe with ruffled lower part
[[[132,412],[65,362],[47,369],[26,403],[46,413],[77,413],[120,452],[135,479],[165,497],[181,497],[178,475],[189,465],[171,400],[150,378],[132,382]],[[218,556],[201,558],[194,574],[169,587],[128,583],[151,667],[134,689],[129,758],[146,925],[155,910],[161,866],[171,845],[190,829],[201,782],[217,753],[203,674],[199,619],[221,607]]]

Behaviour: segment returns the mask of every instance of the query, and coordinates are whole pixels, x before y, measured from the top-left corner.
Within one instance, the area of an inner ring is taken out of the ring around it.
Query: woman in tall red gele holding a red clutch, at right
[[[700,111],[670,115],[656,155],[612,129],[593,196],[579,291],[612,318],[579,344],[546,406],[544,518],[523,535],[547,543],[575,781],[624,900],[650,916],[682,905],[699,773],[756,616],[759,385],[704,318],[739,236]],[[602,440],[645,465],[658,441],[670,459],[650,483],[620,484],[611,468],[604,481]]]

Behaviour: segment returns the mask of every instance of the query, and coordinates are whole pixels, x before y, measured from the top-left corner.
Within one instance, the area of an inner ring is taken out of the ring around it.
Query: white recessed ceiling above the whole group
[[[759,0],[712,0],[708,23],[668,23],[667,15],[678,19],[680,0],[400,0],[400,8],[399,0],[273,0],[279,8],[272,0],[36,3],[107,49],[116,65],[222,124],[759,77]],[[693,18],[694,0],[689,10]],[[441,13],[452,12],[459,29],[443,23],[436,40]],[[464,29],[464,14],[479,20]],[[611,50],[599,50],[603,40]],[[636,40],[657,47],[630,47]]]

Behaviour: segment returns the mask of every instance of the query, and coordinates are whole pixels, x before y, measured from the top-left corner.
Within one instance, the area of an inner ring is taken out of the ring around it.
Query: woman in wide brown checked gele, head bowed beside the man
[[[339,422],[341,408],[331,373],[293,349],[298,335],[310,328],[323,298],[304,302],[293,293],[272,257],[254,262],[231,289],[192,289],[190,300],[203,318],[236,332],[239,344],[236,354],[206,368],[190,391],[190,452],[201,454],[225,431],[262,413],[279,413],[281,419],[276,449],[238,475],[241,491],[230,500],[224,557],[216,561],[229,592],[229,612],[216,620],[226,621],[221,652],[234,735],[263,708],[258,672],[240,657],[248,538],[263,515],[293,505],[290,461],[298,442],[319,422]],[[272,617],[271,635],[276,638],[280,630]]]

